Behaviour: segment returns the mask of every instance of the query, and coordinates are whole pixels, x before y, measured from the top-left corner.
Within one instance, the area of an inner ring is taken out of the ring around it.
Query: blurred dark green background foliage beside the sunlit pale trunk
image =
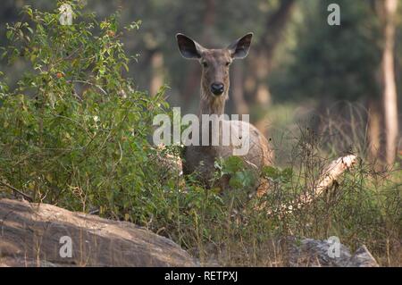
[[[339,4],[341,24],[327,23],[328,5]],[[381,23],[370,1],[301,1],[294,23],[292,60],[274,71],[270,82],[278,100],[317,98],[356,101],[381,94]],[[290,97],[289,97],[290,96]]]

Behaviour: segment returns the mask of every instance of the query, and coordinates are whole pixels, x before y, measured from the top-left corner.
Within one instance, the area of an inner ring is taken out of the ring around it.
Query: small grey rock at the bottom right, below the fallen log
[[[378,267],[367,247],[359,247],[354,255],[339,243],[336,247],[329,240],[291,238],[289,265],[292,267]],[[335,249],[336,248],[336,249]]]

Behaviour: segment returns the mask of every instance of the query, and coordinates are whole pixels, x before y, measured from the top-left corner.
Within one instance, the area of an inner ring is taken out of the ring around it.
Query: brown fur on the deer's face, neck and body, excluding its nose
[[[244,37],[245,38],[245,37]],[[244,39],[241,38],[238,40]],[[250,37],[251,39],[251,37]],[[248,41],[248,46],[250,43]],[[184,43],[184,48],[181,46],[181,42]],[[224,113],[224,107],[226,100],[228,99],[229,88],[230,88],[230,78],[229,78],[229,68],[230,63],[234,59],[234,49],[223,48],[223,49],[206,49],[197,42],[194,42],[194,46],[191,43],[191,39],[183,36],[183,38],[178,38],[180,52],[186,58],[197,58],[198,61],[203,66],[202,77],[201,77],[201,98],[199,107],[199,117],[201,119],[202,114],[218,114]],[[235,43],[236,44],[236,43]],[[241,42],[244,45],[243,42]],[[247,43],[246,43],[247,44]],[[238,44],[239,46],[239,44]],[[243,46],[240,46],[243,47]],[[197,49],[197,50],[196,50]],[[189,51],[189,52],[188,52]],[[192,53],[190,53],[192,52]],[[188,55],[189,54],[189,55]],[[246,52],[247,55],[247,52]],[[245,55],[244,55],[245,56]],[[243,57],[244,57],[243,56]],[[224,85],[223,94],[220,96],[215,96],[211,91],[211,84],[214,82],[220,82]],[[201,121],[201,120],[200,120]],[[247,122],[239,121],[225,121],[222,122],[223,126],[234,130],[237,128],[247,127]],[[242,158],[246,163],[247,167],[255,174],[259,175],[264,165],[269,165],[272,163],[272,149],[268,144],[264,135],[251,124],[249,124],[249,141],[250,147],[247,155],[243,155]],[[241,133],[241,132],[240,132]],[[222,133],[212,134],[222,138]],[[239,135],[240,136],[240,135]],[[200,131],[200,139],[202,138],[202,133]],[[211,138],[211,136],[210,136]],[[218,158],[227,158],[232,155],[234,146],[189,146],[185,149],[184,161],[183,161],[183,172],[185,174],[197,172],[199,174],[199,179],[203,180],[208,187],[212,187],[211,180],[214,178],[214,162]],[[220,186],[223,189],[228,188],[228,177],[222,177],[219,181]],[[260,181],[255,183],[255,188],[259,196],[264,194],[267,189],[266,181]]]

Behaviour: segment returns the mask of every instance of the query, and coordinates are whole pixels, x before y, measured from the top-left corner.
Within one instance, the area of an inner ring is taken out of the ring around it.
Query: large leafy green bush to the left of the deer
[[[4,56],[30,67],[17,88],[0,85],[0,179],[37,202],[143,223],[167,207],[149,203],[163,192],[147,140],[163,89],[148,96],[123,77],[117,13],[98,23],[71,5],[70,26],[28,6],[29,23],[8,26]]]

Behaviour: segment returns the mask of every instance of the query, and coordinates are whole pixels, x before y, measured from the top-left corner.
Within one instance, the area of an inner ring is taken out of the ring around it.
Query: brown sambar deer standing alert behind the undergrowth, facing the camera
[[[253,33],[248,33],[226,48],[208,49],[183,34],[176,35],[180,54],[184,58],[195,59],[202,65],[201,97],[198,114],[200,122],[203,120],[203,114],[221,116],[224,113],[230,87],[230,63],[234,59],[242,59],[247,56],[252,37]],[[198,178],[204,181],[207,187],[213,186],[211,181],[214,179],[215,161],[218,158],[225,159],[233,155],[233,150],[239,147],[239,141],[240,143],[245,141],[249,143],[247,153],[241,157],[247,168],[252,169],[255,174],[259,175],[264,165],[272,163],[272,149],[264,135],[253,125],[248,122],[228,120],[222,120],[220,124],[222,128],[218,128],[218,130],[209,128],[208,130],[210,138],[217,137],[221,139],[219,145],[190,145],[185,148],[183,157],[183,172],[185,174],[197,172]],[[239,141],[236,143],[230,141],[229,145],[223,145],[222,130],[225,128],[230,130],[230,136],[233,136],[233,134],[235,138],[238,136]],[[200,140],[202,140],[202,134],[203,132],[200,130]],[[222,189],[226,189],[228,181],[229,177],[222,177],[219,181],[219,186]],[[255,180],[254,189],[257,190],[257,195],[264,194],[266,182],[264,182],[263,186],[261,181]]]

